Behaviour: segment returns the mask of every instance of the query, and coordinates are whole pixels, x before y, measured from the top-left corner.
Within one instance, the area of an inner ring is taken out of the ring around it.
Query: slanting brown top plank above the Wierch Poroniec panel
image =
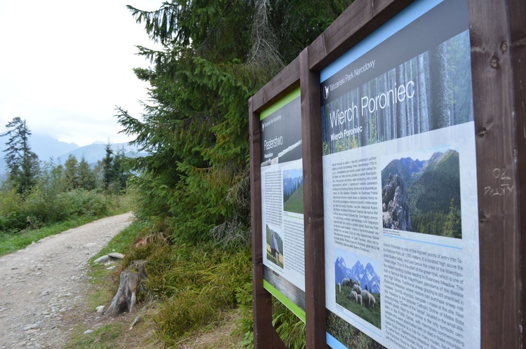
[[[310,68],[319,71],[393,18],[412,0],[356,0],[309,46]]]

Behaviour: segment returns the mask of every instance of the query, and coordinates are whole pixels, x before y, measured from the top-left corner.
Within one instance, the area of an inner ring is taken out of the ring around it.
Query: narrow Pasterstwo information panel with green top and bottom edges
[[[305,321],[299,88],[260,115],[263,284]]]

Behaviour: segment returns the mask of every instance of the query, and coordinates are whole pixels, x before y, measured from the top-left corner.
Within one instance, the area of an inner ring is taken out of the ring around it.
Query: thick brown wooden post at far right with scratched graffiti
[[[513,62],[508,49],[510,13],[506,2],[468,1],[476,128],[483,348],[520,348],[522,342],[520,192],[515,161],[518,149],[513,110]],[[499,191],[501,189],[504,192]]]

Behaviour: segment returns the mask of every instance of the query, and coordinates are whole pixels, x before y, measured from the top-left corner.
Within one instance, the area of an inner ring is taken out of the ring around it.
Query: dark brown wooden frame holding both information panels
[[[301,88],[307,348],[325,342],[325,260],[319,72],[409,5],[357,0],[249,102],[252,268],[256,348],[283,348],[271,327],[271,295],[262,285],[259,112]],[[526,4],[468,0],[476,125],[483,348],[526,346]],[[506,176],[497,176],[495,173]],[[504,186],[506,196],[487,188]],[[320,205],[320,203],[322,203]]]

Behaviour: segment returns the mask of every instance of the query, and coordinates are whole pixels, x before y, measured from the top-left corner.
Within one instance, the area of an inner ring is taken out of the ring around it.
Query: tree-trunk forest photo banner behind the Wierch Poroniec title
[[[462,32],[324,105],[323,155],[473,121],[469,48]]]

